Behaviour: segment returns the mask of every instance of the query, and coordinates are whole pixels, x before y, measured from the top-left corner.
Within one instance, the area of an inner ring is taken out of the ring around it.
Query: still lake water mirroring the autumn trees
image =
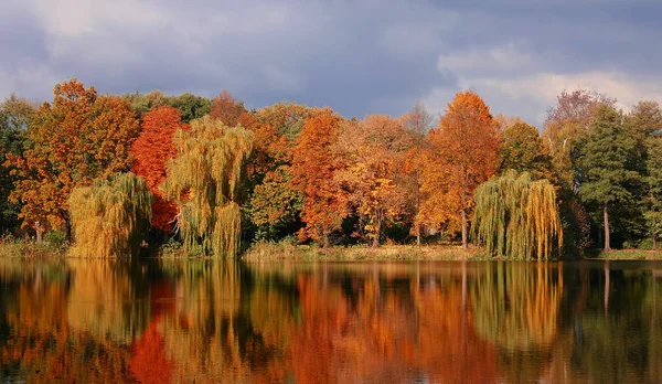
[[[0,259],[2,381],[662,382],[662,264]]]

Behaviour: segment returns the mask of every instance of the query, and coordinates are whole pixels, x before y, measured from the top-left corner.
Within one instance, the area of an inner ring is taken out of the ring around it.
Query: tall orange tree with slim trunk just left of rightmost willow
[[[462,246],[467,248],[473,192],[496,170],[499,131],[490,108],[471,90],[458,93],[439,126],[430,131],[429,141],[420,214],[433,225],[459,222]]]

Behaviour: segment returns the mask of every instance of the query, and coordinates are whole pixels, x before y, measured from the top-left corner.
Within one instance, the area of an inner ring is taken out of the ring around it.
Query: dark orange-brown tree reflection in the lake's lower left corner
[[[0,301],[2,322],[11,335],[11,342],[0,343],[2,376],[17,375],[14,378],[28,383],[131,381],[125,348],[67,323],[65,281],[38,279],[33,266],[26,266],[23,275],[28,269],[33,276],[10,291],[3,290]]]

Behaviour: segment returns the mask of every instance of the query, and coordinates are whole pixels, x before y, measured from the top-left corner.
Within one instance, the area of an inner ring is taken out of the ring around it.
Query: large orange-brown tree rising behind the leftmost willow
[[[10,158],[19,178],[11,199],[24,204],[23,226],[34,225],[38,235],[65,227],[72,190],[128,170],[138,131],[120,97],[98,96],[75,78],[56,85],[53,102],[41,106],[28,128],[30,149]]]

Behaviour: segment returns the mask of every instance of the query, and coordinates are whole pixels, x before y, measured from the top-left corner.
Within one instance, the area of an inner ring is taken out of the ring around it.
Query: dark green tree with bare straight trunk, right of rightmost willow
[[[622,114],[602,104],[595,109],[590,128],[577,147],[579,194],[584,201],[601,207],[607,252],[611,249],[610,205],[632,200],[630,186],[641,177],[632,170],[637,141],[628,135]]]

